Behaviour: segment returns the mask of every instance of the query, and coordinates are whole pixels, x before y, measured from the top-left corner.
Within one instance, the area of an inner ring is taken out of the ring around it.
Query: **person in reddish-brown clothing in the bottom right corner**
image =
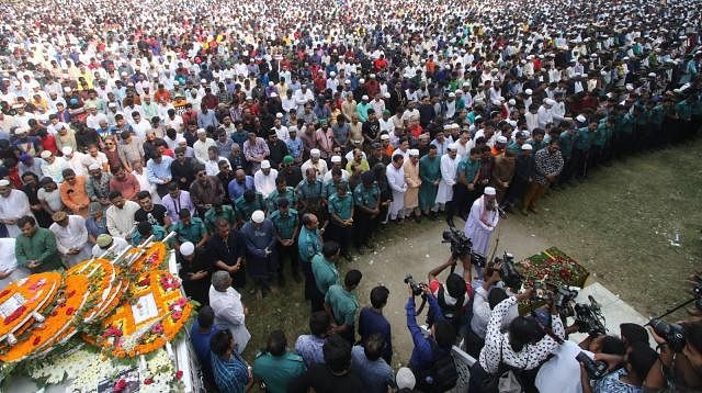
[[[644,380],[647,392],[660,392],[666,386],[671,391],[702,389],[702,322],[683,322],[680,326],[684,345],[679,352],[675,350],[678,344],[650,330],[660,355]]]

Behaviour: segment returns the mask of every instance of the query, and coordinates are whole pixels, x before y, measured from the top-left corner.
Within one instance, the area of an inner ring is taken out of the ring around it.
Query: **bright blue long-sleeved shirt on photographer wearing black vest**
[[[429,317],[432,318],[432,321],[443,319],[443,314],[441,313],[441,308],[439,308],[437,297],[427,296],[427,301],[429,303]],[[427,338],[421,333],[419,325],[417,325],[415,297],[407,300],[405,311],[407,312],[407,328],[412,336],[412,343],[415,343],[412,356],[409,358],[409,368],[412,370],[429,370],[434,360],[440,355],[448,353],[450,349],[440,348],[433,340],[433,337]]]

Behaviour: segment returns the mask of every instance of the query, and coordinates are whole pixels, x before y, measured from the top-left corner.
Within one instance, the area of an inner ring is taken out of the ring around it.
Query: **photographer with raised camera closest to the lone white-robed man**
[[[430,270],[427,274],[429,281],[429,290],[435,296],[441,311],[441,315],[453,324],[456,333],[461,333],[467,325],[467,307],[471,299],[473,297],[473,274],[471,272],[471,259],[468,256],[462,256],[461,262],[463,266],[463,277],[457,273],[450,273],[446,277],[445,285],[439,281],[439,274],[446,268],[454,266],[458,261],[457,257],[449,257],[449,259]],[[429,315],[429,323],[431,324],[434,318]]]

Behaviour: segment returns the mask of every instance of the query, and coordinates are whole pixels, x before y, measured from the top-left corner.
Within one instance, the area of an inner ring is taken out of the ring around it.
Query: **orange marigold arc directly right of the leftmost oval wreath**
[[[88,279],[83,276],[69,276],[66,278],[65,284],[63,297],[46,316],[42,326],[33,329],[26,339],[19,341],[5,353],[0,355],[1,361],[16,362],[34,352],[42,351],[56,337],[71,327],[88,299]]]

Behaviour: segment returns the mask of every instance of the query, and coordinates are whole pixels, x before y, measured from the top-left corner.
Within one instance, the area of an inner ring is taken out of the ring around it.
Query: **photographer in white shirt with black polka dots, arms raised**
[[[529,299],[532,290],[511,296],[500,302],[487,325],[485,347],[480,350],[479,360],[471,368],[469,392],[482,392],[486,383],[499,378],[505,368],[511,369],[530,385],[533,372],[558,347],[551,334],[563,339],[565,330],[558,317],[558,311],[551,303],[551,323],[553,333],[544,336],[544,329],[535,318],[519,316],[509,324],[508,332],[501,333],[502,321],[517,302]],[[530,390],[526,390],[530,391]]]

